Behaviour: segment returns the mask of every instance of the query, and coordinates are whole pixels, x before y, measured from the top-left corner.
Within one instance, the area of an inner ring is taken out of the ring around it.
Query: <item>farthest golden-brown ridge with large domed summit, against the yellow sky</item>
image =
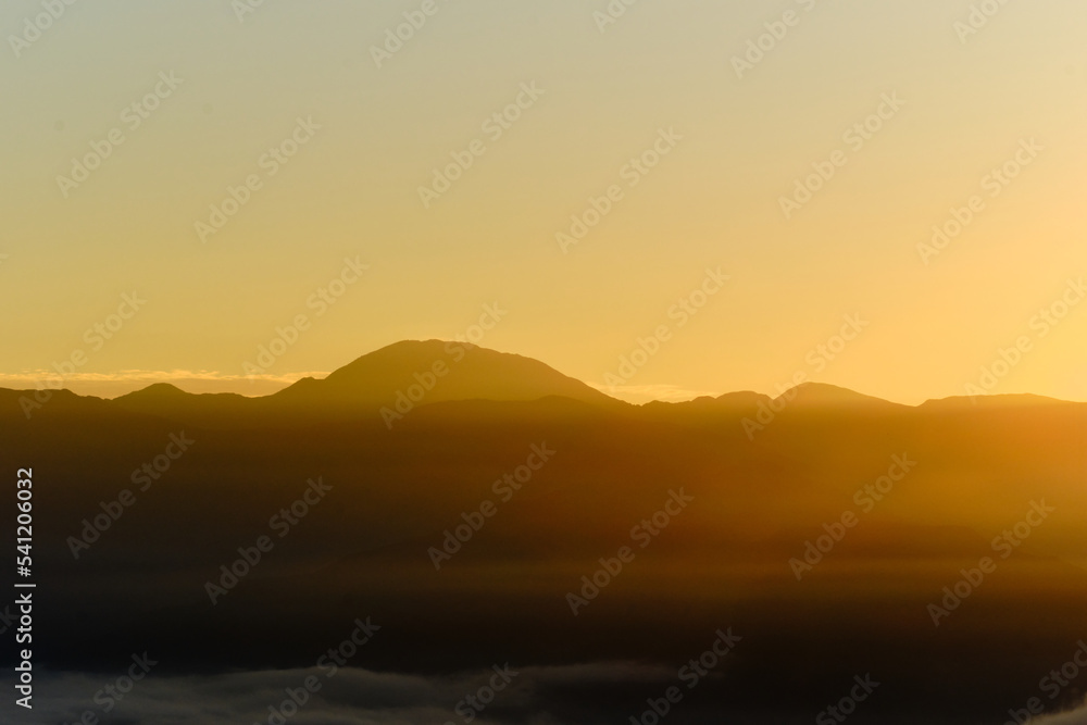
[[[17,409],[20,398],[33,391],[0,390],[0,408]],[[467,342],[404,340],[348,363],[324,379],[302,378],[274,395],[250,398],[237,393],[186,392],[159,383],[113,400],[52,393],[54,412],[107,407],[141,415],[178,421],[205,428],[292,427],[324,420],[382,421],[434,403],[457,401],[530,402],[567,399],[602,410],[645,411],[666,420],[724,421],[753,417],[770,409],[787,417],[812,415],[896,415],[899,413],[965,414],[982,411],[1033,410],[1075,405],[1033,395],[952,397],[910,407],[823,383],[804,383],[776,398],[752,391],[701,397],[684,402],[652,401],[632,405],[545,363],[488,350]],[[91,402],[96,401],[96,402]],[[13,411],[0,411],[0,414]]]

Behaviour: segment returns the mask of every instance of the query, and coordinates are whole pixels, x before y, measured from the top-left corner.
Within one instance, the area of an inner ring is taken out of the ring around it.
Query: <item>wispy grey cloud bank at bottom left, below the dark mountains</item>
[[[501,670],[503,665],[497,666]],[[478,725],[559,725],[569,721],[548,710],[564,698],[564,692],[614,684],[653,690],[675,680],[674,670],[625,662],[514,666],[507,672],[515,673],[509,686],[493,699],[483,693],[482,699],[490,704],[474,720]],[[270,718],[279,723],[275,717],[278,712],[289,714],[286,722],[290,725],[461,725],[465,721],[454,709],[467,696],[489,687],[495,677],[495,668],[435,676],[350,667],[166,676],[152,668],[130,691],[113,700],[103,690],[115,682],[109,674],[42,673],[35,680],[33,711],[20,710],[17,717],[3,720],[55,725],[79,722],[90,711],[103,722],[118,725],[266,725]],[[312,695],[305,692],[307,678],[320,685]],[[304,700],[301,707],[295,707],[290,691]],[[108,705],[110,712],[105,713]],[[605,722],[603,713],[592,710],[582,712],[577,722]],[[462,707],[462,712],[467,711]]]

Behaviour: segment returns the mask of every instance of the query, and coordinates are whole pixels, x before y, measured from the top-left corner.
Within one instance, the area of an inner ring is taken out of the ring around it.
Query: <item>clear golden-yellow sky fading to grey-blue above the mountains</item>
[[[259,395],[462,336],[635,401],[1087,400],[1085,26],[1071,0],[10,0],[0,386]]]

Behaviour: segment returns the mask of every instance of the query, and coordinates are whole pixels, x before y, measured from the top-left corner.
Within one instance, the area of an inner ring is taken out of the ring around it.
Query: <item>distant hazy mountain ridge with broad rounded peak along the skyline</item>
[[[5,393],[33,395],[34,390],[0,388]],[[103,400],[96,396],[75,399]],[[569,398],[592,405],[612,409],[733,411],[755,410],[762,405],[777,409],[838,410],[935,410],[986,408],[1023,408],[1036,405],[1075,405],[1033,393],[1003,393],[934,398],[916,405],[897,403],[849,388],[826,383],[808,382],[780,391],[776,397],[751,390],[701,396],[688,401],[653,400],[641,404],[628,403],[582,380],[564,375],[546,363],[515,353],[499,352],[468,342],[448,340],[401,340],[385,346],[336,368],[324,378],[303,377],[288,387],[265,396],[248,397],[237,392],[188,392],[172,383],[154,383],[145,388],[108,399],[117,408],[148,414],[159,414],[163,408],[182,409],[189,415],[203,411],[199,417],[233,418],[252,412],[275,411],[314,413],[316,411],[360,413],[382,409],[414,408],[437,402],[488,400],[527,402],[545,398]],[[68,402],[73,402],[68,400]],[[186,415],[188,417],[189,415]]]

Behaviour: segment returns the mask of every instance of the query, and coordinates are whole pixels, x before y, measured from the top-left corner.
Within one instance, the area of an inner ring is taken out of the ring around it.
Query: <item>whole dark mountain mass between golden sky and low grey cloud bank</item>
[[[735,626],[745,640],[725,676],[699,685],[708,702],[753,707],[783,688],[833,702],[873,672],[898,689],[866,712],[930,722],[895,692],[1022,703],[1087,628],[1087,404],[909,407],[807,385],[638,407],[534,360],[437,341],[263,398],[59,391],[28,418],[20,400],[34,396],[0,390],[0,468],[34,468],[35,575],[50,592],[35,651],[54,671],[145,650],[164,668],[312,666],[372,614],[367,668],[630,659],[674,679],[674,663]],[[411,407],[387,426],[400,396]],[[317,478],[327,499],[297,503],[307,513],[280,539],[271,522]],[[135,503],[117,503],[123,491]],[[1053,513],[999,558],[994,537],[1024,532],[1042,501]],[[0,510],[7,530],[15,515]],[[645,548],[632,533],[644,526],[657,532]],[[76,558],[82,536],[93,540]],[[262,536],[274,547],[237,564],[252,571],[212,604],[208,583]],[[567,595],[624,546],[635,559],[575,617]],[[936,628],[927,605],[982,557],[999,568]],[[933,662],[948,676],[934,680]],[[635,688],[630,712],[655,691]],[[990,710],[999,722],[1004,708]]]

